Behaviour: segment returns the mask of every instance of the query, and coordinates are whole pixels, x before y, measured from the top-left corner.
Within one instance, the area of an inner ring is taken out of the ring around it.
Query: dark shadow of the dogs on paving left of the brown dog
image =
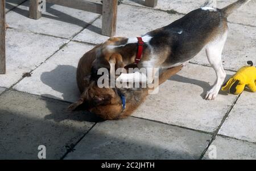
[[[80,92],[76,84],[76,67],[70,65],[59,65],[56,67],[56,69],[52,71],[43,72],[40,79],[44,84],[51,87],[53,90],[60,92],[63,96],[64,101],[70,101],[71,98],[76,101],[80,97]],[[42,96],[52,99],[60,99],[49,94],[43,94]],[[71,105],[71,102],[66,102],[66,104],[67,106],[65,110],[68,109],[68,106]],[[56,106],[52,103],[47,103],[47,108],[51,111],[54,111],[56,109]],[[60,122],[65,119],[88,122],[102,121],[102,119],[97,117],[95,114],[88,112],[88,110],[86,110],[86,106],[82,106],[81,108],[79,108],[79,110],[77,110],[77,112],[71,112],[70,114],[63,117],[57,117],[57,119],[54,115],[54,112],[52,114],[49,114],[45,118],[55,119],[56,122]]]

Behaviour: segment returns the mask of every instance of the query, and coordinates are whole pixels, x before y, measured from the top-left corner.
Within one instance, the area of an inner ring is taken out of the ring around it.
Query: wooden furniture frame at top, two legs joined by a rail
[[[117,1],[103,0],[101,3],[84,0],[44,0],[48,3],[94,12],[102,15],[102,35],[114,36],[117,24]],[[30,0],[30,18],[39,19],[42,16],[43,0]]]

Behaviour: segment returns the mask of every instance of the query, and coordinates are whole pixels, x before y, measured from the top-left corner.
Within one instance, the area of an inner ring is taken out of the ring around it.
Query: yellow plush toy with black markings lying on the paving
[[[252,92],[256,92],[256,67],[253,66],[253,62],[247,62],[250,66],[244,66],[233,75],[228,82],[226,82],[221,90],[229,91],[234,95],[240,95],[245,86],[247,86]]]

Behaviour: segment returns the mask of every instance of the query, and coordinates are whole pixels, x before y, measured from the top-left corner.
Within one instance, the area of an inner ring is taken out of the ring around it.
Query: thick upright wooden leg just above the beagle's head
[[[102,35],[115,35],[117,26],[117,1],[118,0],[103,0]]]

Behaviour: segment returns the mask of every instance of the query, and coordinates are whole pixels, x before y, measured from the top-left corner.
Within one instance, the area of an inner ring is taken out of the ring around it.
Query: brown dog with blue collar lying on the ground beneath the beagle
[[[77,67],[77,86],[81,92],[78,101],[69,106],[69,110],[75,110],[78,106],[86,104],[90,112],[103,119],[121,119],[130,116],[135,109],[146,99],[150,88],[99,88],[96,80],[91,80],[91,69],[98,45],[85,53]],[[168,69],[159,76],[159,84],[175,75],[183,66]],[[125,99],[125,106],[123,104]]]

